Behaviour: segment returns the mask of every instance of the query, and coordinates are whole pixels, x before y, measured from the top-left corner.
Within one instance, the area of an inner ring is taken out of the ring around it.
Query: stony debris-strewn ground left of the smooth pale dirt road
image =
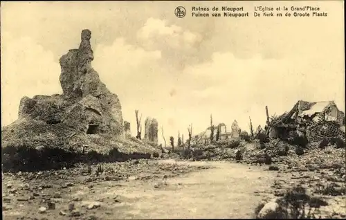
[[[109,184],[112,185],[112,187],[122,187],[122,184],[113,183],[116,183],[116,181],[127,181],[128,179],[136,179],[136,182],[140,180],[154,181],[154,183],[158,183],[158,186],[161,187],[167,184],[161,184],[161,181],[163,182],[167,178],[208,168],[202,166],[158,163],[156,161],[149,161],[147,163],[147,160],[140,159],[122,163],[102,163],[102,169],[104,170],[102,175],[96,176],[95,172],[88,176],[82,175],[88,166],[90,166],[92,170],[96,170],[100,165],[78,164],[73,168],[46,171],[41,175],[36,175],[37,172],[24,172],[21,176],[17,176],[4,172],[3,184],[5,185],[6,182],[10,182],[12,187],[3,187],[3,210],[26,210],[28,217],[35,218],[35,214],[30,212],[30,207],[35,207],[35,205],[37,205],[37,208],[42,207],[42,211],[38,210],[40,213],[57,210],[57,212],[50,212],[50,214],[59,213],[61,216],[69,217],[79,217],[83,215],[84,217],[83,210],[80,210],[80,201],[84,203],[84,201],[89,200],[84,198],[83,194],[75,194],[75,192],[84,189],[87,193],[94,194],[93,196],[97,197],[98,191],[94,189],[98,188],[96,186],[98,186],[100,182],[103,182],[107,176],[109,176]],[[44,176],[44,178],[39,178],[38,176]],[[17,194],[11,195],[9,192],[17,187],[17,181],[25,181],[30,185],[31,190],[28,191],[24,187],[19,187],[17,189]],[[42,190],[39,190],[40,187]],[[27,193],[29,193],[28,198],[25,196]],[[18,205],[17,201],[23,204]],[[129,200],[124,196],[116,195],[100,200],[94,199],[94,201],[95,202],[86,203],[85,210],[103,210],[102,206],[107,207],[107,205],[102,205],[103,203],[109,203],[111,201],[114,204],[120,204]],[[28,203],[30,203],[30,205],[26,205]],[[61,205],[66,206],[64,207]]]

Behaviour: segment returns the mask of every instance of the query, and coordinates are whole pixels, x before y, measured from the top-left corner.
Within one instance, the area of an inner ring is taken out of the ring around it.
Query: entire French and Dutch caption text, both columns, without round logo
[[[222,13],[220,13],[222,12]],[[192,17],[249,17],[249,13],[242,7],[201,7],[193,6]],[[254,17],[327,17],[327,12],[321,12],[319,7],[268,7],[255,6]]]

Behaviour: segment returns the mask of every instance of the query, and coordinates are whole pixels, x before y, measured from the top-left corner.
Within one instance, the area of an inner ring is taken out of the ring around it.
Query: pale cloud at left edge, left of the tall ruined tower
[[[17,119],[19,100],[26,95],[62,93],[60,64],[51,51],[30,37],[1,33],[1,124]]]

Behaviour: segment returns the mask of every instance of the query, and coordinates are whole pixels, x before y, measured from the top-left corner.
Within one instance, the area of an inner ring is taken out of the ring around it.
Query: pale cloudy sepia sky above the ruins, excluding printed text
[[[188,15],[179,19],[176,6]],[[327,17],[191,17],[192,6],[320,6]],[[27,95],[62,93],[59,58],[92,32],[93,68],[116,93],[136,133],[134,109],[157,118],[166,140],[234,120],[248,130],[298,100],[345,111],[343,1],[1,2],[1,122]],[[144,129],[144,127],[143,127]],[[161,141],[161,134],[159,134]]]

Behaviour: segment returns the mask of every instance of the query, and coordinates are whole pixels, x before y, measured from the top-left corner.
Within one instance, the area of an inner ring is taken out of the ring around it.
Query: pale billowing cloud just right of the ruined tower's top
[[[156,63],[161,59],[161,51],[147,51],[117,38],[109,46],[98,44],[94,57],[92,66],[102,82],[114,93],[127,96],[131,92],[145,92],[143,85],[158,75]]]

